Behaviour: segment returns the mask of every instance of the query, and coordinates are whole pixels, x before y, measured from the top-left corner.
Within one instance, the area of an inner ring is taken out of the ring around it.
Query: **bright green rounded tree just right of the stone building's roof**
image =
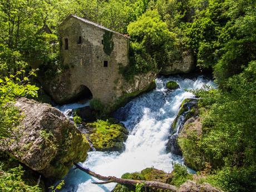
[[[146,11],[137,21],[131,22],[127,31],[131,36],[130,67],[133,72],[154,71],[177,58],[176,35],[161,21],[156,9]]]

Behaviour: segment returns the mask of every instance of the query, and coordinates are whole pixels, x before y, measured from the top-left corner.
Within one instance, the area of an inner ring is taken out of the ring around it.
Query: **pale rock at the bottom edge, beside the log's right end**
[[[223,192],[217,188],[214,188],[208,183],[197,184],[194,181],[186,181],[182,184],[177,192]]]

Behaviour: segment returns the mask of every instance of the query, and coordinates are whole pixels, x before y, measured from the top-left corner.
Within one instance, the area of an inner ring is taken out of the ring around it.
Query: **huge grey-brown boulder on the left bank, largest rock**
[[[60,179],[73,163],[84,161],[90,148],[86,137],[61,111],[25,98],[15,104],[23,120],[18,138],[5,150],[46,178]]]

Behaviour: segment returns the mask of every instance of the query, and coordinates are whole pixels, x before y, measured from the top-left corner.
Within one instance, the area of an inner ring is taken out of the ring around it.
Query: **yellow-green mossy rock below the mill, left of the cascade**
[[[123,151],[129,131],[121,124],[111,124],[108,120],[98,120],[86,124],[91,133],[88,139],[97,151]]]

